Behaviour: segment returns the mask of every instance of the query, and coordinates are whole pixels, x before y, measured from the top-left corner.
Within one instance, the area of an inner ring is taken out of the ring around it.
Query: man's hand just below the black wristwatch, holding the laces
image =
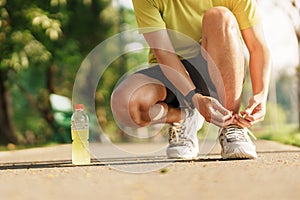
[[[225,127],[233,123],[234,117],[232,112],[224,108],[218,100],[195,94],[193,102],[207,122],[219,127]]]

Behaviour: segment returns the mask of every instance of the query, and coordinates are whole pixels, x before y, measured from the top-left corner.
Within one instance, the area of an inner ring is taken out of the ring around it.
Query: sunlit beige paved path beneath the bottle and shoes
[[[300,199],[300,148],[256,145],[258,159],[224,161],[209,143],[196,160],[167,159],[161,143],[93,144],[89,166],[71,164],[70,145],[0,152],[0,199]]]

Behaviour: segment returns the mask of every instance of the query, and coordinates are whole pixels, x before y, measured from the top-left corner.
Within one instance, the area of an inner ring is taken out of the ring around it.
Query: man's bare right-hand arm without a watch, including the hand
[[[253,96],[243,117],[237,117],[237,124],[250,127],[264,119],[266,113],[266,101],[268,96],[271,59],[267,48],[262,25],[242,30],[242,36],[250,53],[250,76]]]

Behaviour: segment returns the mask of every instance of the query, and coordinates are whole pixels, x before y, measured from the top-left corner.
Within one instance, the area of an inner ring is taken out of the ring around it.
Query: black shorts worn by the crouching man
[[[181,61],[189,73],[193,83],[200,93],[204,96],[212,96],[217,98],[216,88],[208,73],[208,65],[202,56]],[[138,71],[151,78],[159,80],[167,89],[167,97],[164,100],[168,105],[173,107],[186,107],[184,96],[175,88],[175,86],[167,79],[159,65],[149,67]]]

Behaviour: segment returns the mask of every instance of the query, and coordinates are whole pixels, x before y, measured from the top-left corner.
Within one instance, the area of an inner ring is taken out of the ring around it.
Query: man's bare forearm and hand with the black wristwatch
[[[175,53],[167,30],[144,33],[144,37],[160,64],[164,75],[179,92],[186,96],[191,90],[195,89],[194,83]],[[231,112],[224,108],[216,99],[197,93],[193,97],[193,103],[209,122],[217,126],[224,126],[226,123],[230,123],[228,120],[232,118]]]

